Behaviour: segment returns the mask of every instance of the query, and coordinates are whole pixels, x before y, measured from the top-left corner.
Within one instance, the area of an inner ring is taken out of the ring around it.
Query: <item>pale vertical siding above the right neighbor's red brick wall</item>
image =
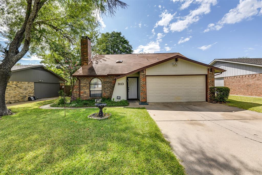
[[[226,72],[223,72],[220,75],[215,75],[215,78],[262,73],[262,67],[245,65],[245,64],[226,63],[225,62],[223,64],[217,65],[216,67],[224,69],[226,70]]]

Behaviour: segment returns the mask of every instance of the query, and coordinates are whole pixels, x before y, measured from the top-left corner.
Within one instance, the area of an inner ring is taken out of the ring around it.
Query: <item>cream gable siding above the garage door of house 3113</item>
[[[166,61],[165,63],[153,66],[146,69],[146,75],[193,75],[193,74],[207,74],[207,67],[178,59],[178,64],[175,59]]]

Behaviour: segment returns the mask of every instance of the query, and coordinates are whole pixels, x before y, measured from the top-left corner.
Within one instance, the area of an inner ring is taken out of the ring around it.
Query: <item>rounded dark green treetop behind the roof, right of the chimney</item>
[[[133,53],[132,45],[125,39],[121,32],[102,33],[97,38],[94,48],[97,54],[131,54]]]

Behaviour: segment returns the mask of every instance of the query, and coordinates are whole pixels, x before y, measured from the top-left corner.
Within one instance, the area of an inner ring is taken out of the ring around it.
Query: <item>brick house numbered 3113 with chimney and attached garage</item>
[[[141,102],[209,101],[214,74],[225,70],[180,53],[96,55],[81,37],[81,68],[71,100],[110,98]]]

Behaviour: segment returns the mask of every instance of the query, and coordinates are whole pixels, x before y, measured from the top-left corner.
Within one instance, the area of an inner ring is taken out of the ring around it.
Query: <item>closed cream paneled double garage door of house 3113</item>
[[[206,101],[205,75],[147,76],[148,102]]]

